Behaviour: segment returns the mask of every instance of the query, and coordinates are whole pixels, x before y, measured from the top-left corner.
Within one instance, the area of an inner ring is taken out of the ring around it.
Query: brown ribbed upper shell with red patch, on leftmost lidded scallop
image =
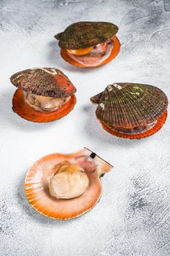
[[[69,97],[76,88],[59,69],[32,68],[15,73],[10,78],[14,86],[33,94],[48,97]]]

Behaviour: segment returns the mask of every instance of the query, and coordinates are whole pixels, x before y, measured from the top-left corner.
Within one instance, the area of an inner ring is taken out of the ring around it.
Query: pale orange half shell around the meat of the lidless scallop
[[[39,159],[28,170],[24,184],[26,198],[31,206],[36,211],[39,211],[40,214],[53,219],[72,219],[90,211],[101,197],[101,181],[99,176],[101,173],[106,173],[112,168],[112,165],[109,165],[103,159],[100,159],[98,156],[93,159],[102,171],[101,173],[97,171],[87,173],[90,181],[89,187],[80,197],[73,199],[57,199],[52,197],[48,184],[55,172],[54,165],[66,160],[74,161],[75,157],[89,157],[91,153],[88,148],[83,148],[74,154],[49,154]]]

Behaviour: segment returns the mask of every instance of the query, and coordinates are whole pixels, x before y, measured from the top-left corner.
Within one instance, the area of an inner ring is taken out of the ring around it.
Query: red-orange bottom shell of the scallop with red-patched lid
[[[25,118],[28,121],[34,121],[39,123],[55,121],[62,118],[63,116],[66,116],[69,112],[73,110],[75,104],[76,97],[73,94],[69,101],[66,102],[66,104],[64,104],[58,110],[49,113],[42,113],[34,110],[34,108],[31,108],[25,102],[22,89],[17,89],[12,98],[12,109],[14,110],[14,112],[18,113],[19,116]]]

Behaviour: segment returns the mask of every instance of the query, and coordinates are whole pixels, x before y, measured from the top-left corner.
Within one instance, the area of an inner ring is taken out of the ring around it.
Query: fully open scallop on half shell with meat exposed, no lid
[[[53,219],[72,219],[90,211],[101,197],[100,177],[112,165],[88,148],[50,154],[28,170],[26,198],[36,211]]]

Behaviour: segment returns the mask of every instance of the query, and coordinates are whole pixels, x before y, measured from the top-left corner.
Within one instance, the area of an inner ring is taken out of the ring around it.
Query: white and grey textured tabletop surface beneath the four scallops
[[[78,20],[115,23],[122,44],[117,59],[78,69],[61,59],[53,35]],[[170,255],[170,122],[143,140],[104,132],[90,96],[108,83],[160,87],[170,98],[170,1],[0,0],[0,255]],[[29,67],[56,67],[77,86],[77,105],[65,118],[34,124],[12,113],[9,77]],[[102,182],[92,211],[55,221],[28,205],[28,168],[52,152],[87,146],[115,166]]]

